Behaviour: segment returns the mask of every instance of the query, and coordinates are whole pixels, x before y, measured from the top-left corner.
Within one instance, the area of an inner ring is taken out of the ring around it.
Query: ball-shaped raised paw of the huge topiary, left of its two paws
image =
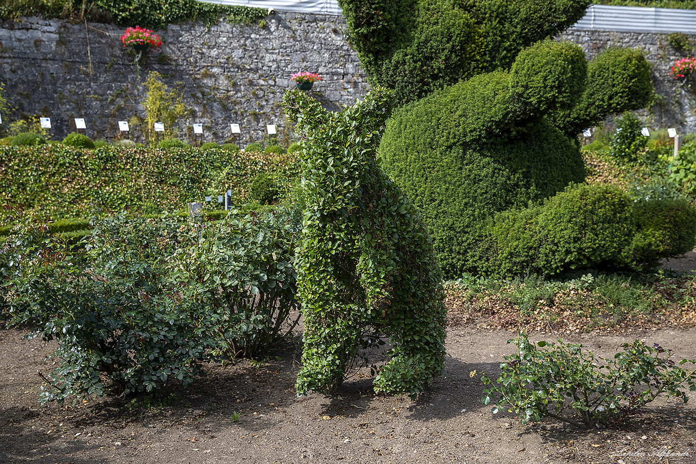
[[[537,42],[510,70],[509,98],[521,114],[545,115],[573,106],[585,89],[583,49],[569,42]]]

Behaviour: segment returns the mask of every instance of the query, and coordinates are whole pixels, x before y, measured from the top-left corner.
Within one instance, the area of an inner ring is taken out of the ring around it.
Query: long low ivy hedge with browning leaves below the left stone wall
[[[52,218],[88,217],[94,208],[149,214],[231,189],[232,201],[242,204],[253,179],[267,171],[292,182],[299,167],[286,155],[191,147],[0,147],[0,203]]]

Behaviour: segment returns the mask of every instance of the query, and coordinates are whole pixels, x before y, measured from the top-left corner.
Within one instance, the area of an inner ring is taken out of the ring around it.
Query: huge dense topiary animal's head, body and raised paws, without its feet
[[[583,182],[579,131],[649,102],[640,52],[610,49],[587,63],[580,47],[539,42],[589,3],[340,0],[372,83],[395,88],[403,105],[379,156],[422,212],[446,275],[490,273],[496,213]],[[562,267],[580,265],[585,257]]]

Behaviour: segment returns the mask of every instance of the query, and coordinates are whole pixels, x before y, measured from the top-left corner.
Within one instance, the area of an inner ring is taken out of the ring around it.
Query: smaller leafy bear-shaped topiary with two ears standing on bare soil
[[[416,394],[443,369],[445,307],[425,226],[375,159],[390,91],[374,88],[340,113],[299,90],[283,104],[304,148],[295,266],[305,332],[296,390],[333,392],[358,350],[386,335],[393,348],[374,390]]]

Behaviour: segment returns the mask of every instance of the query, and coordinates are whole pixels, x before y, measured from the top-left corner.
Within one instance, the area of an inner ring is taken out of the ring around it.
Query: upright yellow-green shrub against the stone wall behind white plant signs
[[[143,108],[147,114],[143,134],[152,145],[160,134],[155,131],[155,122],[164,123],[164,132],[161,133],[165,138],[171,138],[176,127],[177,120],[186,113],[186,106],[181,90],[170,89],[161,81],[161,74],[151,71],[148,79],[145,79],[145,101]]]

